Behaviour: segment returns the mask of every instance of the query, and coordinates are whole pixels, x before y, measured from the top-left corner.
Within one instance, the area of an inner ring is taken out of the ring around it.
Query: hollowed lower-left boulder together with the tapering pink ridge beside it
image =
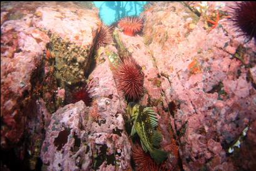
[[[86,107],[80,100],[53,114],[41,149],[47,170],[131,168],[131,146],[124,129],[124,110],[105,53],[98,56],[90,80],[91,107]]]

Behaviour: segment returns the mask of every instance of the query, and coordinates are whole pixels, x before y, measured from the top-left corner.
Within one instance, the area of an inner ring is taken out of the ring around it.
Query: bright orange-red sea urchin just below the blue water
[[[124,30],[126,35],[135,36],[136,32],[141,31],[143,21],[139,17],[125,17],[118,22],[118,26]]]

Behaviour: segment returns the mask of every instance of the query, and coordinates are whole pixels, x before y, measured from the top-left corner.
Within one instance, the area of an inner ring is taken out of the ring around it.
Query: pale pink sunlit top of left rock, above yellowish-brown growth
[[[101,24],[98,10],[79,8],[71,3],[56,10],[54,5],[56,2],[47,2],[46,6],[38,7],[33,24],[57,33],[61,38],[68,39],[78,46],[92,46],[93,38]]]

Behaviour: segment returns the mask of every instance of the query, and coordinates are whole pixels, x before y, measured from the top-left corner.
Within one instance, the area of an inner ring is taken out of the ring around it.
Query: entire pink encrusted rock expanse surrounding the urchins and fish
[[[136,102],[158,114],[161,168],[253,170],[256,46],[228,21],[234,5],[150,2],[142,32],[115,27],[96,49],[91,2],[1,2],[1,170],[138,169],[115,79],[126,56],[143,72]],[[91,105],[72,104],[84,85]]]

